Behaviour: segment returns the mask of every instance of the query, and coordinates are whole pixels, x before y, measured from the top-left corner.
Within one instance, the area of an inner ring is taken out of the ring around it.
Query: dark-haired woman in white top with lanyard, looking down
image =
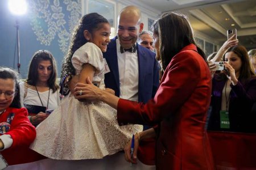
[[[27,80],[19,84],[22,107],[26,107],[28,113],[37,111],[29,116],[34,126],[47,118],[46,111],[53,111],[60,104],[56,77],[56,62],[52,54],[48,50],[36,52],[30,62]]]

